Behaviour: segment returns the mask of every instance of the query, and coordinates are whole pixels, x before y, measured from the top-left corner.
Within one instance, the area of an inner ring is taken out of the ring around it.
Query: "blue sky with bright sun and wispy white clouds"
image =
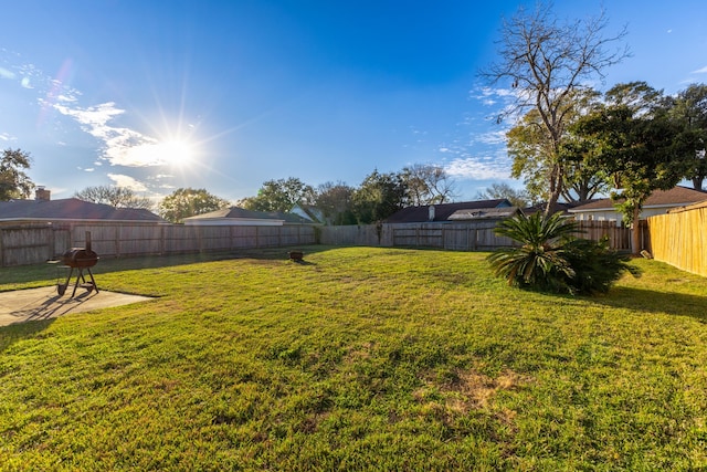
[[[270,179],[358,186],[439,165],[472,200],[509,179],[507,91],[479,67],[503,18],[535,1],[23,0],[2,7],[0,148],[68,198],[120,185],[224,199]],[[623,25],[632,57],[600,88],[707,83],[707,2],[556,1],[560,18]]]

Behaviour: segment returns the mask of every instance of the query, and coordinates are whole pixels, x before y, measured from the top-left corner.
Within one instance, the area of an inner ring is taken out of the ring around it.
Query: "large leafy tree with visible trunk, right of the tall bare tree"
[[[654,190],[675,187],[686,171],[675,151],[679,128],[669,119],[663,93],[645,82],[615,85],[604,98],[604,106],[580,119],[574,130],[594,143],[594,158],[612,179],[612,198],[635,230],[633,251],[639,252],[643,203]]]

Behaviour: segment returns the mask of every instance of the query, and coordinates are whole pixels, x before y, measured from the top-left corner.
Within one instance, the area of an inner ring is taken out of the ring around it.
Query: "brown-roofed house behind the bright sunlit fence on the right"
[[[687,187],[678,186],[671,190],[655,190],[643,203],[640,218],[643,220],[654,214],[667,213],[674,208],[686,207],[705,200],[707,200],[707,192]],[[604,198],[571,208],[568,211],[579,221],[615,221],[616,225],[621,225],[622,216],[614,207],[621,201]]]

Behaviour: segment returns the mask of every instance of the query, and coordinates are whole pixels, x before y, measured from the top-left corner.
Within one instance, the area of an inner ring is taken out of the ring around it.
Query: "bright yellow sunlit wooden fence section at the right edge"
[[[707,276],[707,201],[651,217],[648,228],[653,258]]]

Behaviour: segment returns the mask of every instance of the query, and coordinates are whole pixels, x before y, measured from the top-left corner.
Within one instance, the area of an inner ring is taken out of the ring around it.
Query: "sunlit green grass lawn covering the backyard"
[[[707,468],[707,279],[636,260],[556,296],[485,256],[101,261],[158,298],[0,328],[0,470]]]

